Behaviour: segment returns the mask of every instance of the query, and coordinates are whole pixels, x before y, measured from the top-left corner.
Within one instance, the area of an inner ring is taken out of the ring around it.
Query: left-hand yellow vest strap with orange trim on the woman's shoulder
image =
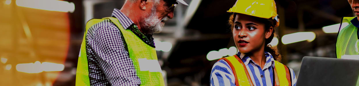
[[[236,78],[236,86],[254,86],[252,79],[247,71],[246,65],[244,65],[242,60],[237,55],[221,59],[226,61],[232,69],[234,78]],[[243,73],[246,73],[246,75],[244,75]]]

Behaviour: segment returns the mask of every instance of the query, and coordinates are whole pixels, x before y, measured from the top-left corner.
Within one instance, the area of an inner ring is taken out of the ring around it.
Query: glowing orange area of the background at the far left
[[[0,5],[0,76],[5,77],[0,85],[51,86],[64,70],[70,13],[25,8],[16,5],[21,0],[9,1]]]

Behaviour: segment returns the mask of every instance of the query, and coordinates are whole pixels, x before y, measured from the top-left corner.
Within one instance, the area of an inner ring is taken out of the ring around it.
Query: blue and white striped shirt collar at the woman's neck
[[[265,56],[266,56],[266,64],[264,65],[263,69],[269,68],[270,66],[272,66],[274,68],[274,58],[272,56],[272,54],[270,54],[269,52],[264,52]],[[244,65],[248,65],[250,62],[257,65],[257,63],[255,63],[248,55],[246,55],[245,53],[241,53],[238,52],[237,55],[239,56],[239,58],[241,58],[241,60],[243,61]]]

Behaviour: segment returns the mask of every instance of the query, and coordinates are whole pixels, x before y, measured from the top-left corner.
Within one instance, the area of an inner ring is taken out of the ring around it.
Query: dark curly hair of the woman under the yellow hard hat
[[[236,14],[237,13],[233,13],[232,15],[230,15],[229,20],[228,20],[228,24],[230,25],[230,27],[231,27],[230,29],[232,32],[233,32],[233,27],[234,27],[234,18],[236,18]],[[268,30],[270,27],[274,27],[273,23],[271,21],[269,21],[268,19],[258,18],[257,20],[260,20],[260,22],[265,24],[265,30]],[[278,48],[272,47],[269,44],[274,37],[278,37],[278,35],[275,33],[275,30],[273,28],[272,34],[270,35],[270,37],[265,39],[265,45],[267,45],[267,46],[264,47],[264,51],[272,54],[274,60],[281,62],[282,56],[280,55]]]

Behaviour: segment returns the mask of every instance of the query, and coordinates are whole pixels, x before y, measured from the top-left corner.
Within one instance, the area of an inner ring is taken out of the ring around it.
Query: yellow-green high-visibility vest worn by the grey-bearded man
[[[79,61],[76,71],[76,86],[90,86],[88,61],[86,54],[86,34],[87,30],[94,24],[109,19],[121,31],[124,41],[127,44],[129,56],[135,67],[136,74],[141,80],[141,86],[164,86],[162,70],[157,61],[155,48],[143,42],[130,29],[123,29],[118,19],[107,17],[102,19],[91,19],[86,24],[84,38],[82,40]]]

